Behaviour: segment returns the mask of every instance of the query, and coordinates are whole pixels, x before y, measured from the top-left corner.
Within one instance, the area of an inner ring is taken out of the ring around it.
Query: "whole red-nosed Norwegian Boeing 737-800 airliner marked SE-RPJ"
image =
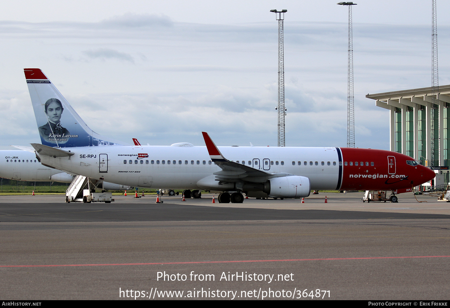
[[[94,133],[38,68],[25,77],[42,145],[40,162],[94,179],[137,187],[222,191],[220,202],[255,197],[306,197],[311,190],[397,190],[435,173],[386,150],[306,147],[119,145]],[[233,192],[231,195],[228,192]]]

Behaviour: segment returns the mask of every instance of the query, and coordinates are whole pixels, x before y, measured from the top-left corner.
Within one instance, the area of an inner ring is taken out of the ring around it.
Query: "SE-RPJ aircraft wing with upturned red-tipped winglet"
[[[214,172],[216,176],[216,181],[220,182],[237,182],[237,181],[248,181],[248,182],[258,182],[262,183],[267,181],[272,177],[285,177],[292,175],[290,173],[272,173],[263,170],[255,169],[250,166],[232,162],[226,159],[220,150],[217,148],[214,141],[207,132],[202,131],[203,139],[205,140],[206,147],[208,149],[211,161],[216,163],[222,170]]]

